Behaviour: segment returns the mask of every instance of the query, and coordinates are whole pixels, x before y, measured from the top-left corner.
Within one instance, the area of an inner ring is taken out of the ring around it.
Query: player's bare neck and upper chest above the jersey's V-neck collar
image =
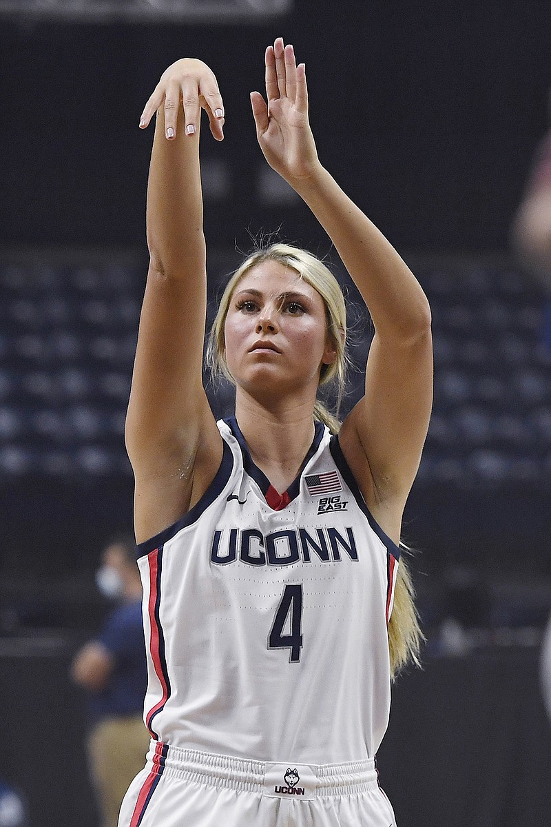
[[[297,476],[314,438],[313,401],[270,403],[269,408],[238,388],[235,418],[250,456],[280,493]]]

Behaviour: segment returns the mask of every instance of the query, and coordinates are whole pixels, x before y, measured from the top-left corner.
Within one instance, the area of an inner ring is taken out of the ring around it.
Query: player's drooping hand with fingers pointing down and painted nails
[[[224,104],[215,74],[202,60],[183,58],[165,69],[154,88],[140,118],[145,129],[150,120],[163,107],[165,135],[172,141],[176,137],[178,107],[183,106],[186,135],[193,135],[199,127],[201,109],[207,112],[212,135],[216,141],[224,138]]]

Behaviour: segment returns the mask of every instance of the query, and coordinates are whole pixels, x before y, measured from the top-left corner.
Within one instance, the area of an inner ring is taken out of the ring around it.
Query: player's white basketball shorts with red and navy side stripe
[[[118,827],[396,827],[373,761],[262,762],[152,741]]]

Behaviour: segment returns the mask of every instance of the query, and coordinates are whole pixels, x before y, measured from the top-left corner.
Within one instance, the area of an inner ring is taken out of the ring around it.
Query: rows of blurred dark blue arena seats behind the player
[[[218,270],[215,284],[228,268]],[[543,294],[507,262],[415,270],[435,338],[435,408],[416,485],[548,485]],[[142,268],[106,262],[0,265],[0,476],[130,475],[123,431],[143,282]],[[352,348],[357,365],[366,351]],[[361,393],[360,371],[350,380],[343,413]],[[209,393],[224,413],[230,389]]]

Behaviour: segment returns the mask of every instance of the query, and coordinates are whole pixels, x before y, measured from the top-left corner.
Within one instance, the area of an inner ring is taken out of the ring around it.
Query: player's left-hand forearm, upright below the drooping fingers
[[[176,137],[165,136],[164,111],[155,122],[150,176],[147,187],[147,242],[154,270],[178,276],[197,273],[205,265],[199,124],[185,134],[183,110],[178,108]]]

